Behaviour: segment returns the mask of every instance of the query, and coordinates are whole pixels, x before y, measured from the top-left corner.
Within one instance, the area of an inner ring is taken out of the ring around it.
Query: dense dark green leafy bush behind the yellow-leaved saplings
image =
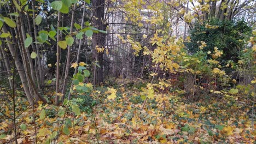
[[[207,44],[203,52],[213,51],[218,47],[223,51],[221,64],[231,60],[237,62],[241,55],[242,49],[249,40],[252,28],[245,21],[219,21],[217,19],[205,22],[197,22],[193,29],[190,30],[190,43],[186,43],[188,50],[195,53],[199,50],[200,43],[205,41]],[[207,55],[208,58],[211,55]]]

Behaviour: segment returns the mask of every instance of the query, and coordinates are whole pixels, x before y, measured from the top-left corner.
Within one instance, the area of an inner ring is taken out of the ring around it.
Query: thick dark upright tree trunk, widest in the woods
[[[104,19],[104,0],[92,0],[92,26],[97,29],[106,31],[106,24],[103,22]],[[103,82],[103,56],[104,52],[97,53],[95,47],[104,47],[106,34],[94,33],[92,35],[92,59],[97,62],[99,67],[94,67],[94,86],[99,85]]]

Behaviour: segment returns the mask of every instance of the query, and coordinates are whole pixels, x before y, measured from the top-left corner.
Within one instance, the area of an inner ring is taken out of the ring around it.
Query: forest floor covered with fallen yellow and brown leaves
[[[114,99],[109,98],[113,88],[97,87],[69,101],[80,111],[68,104],[39,103],[33,112],[18,92],[18,143],[255,143],[252,100],[246,94],[232,100],[205,94],[193,100],[168,91],[165,99],[148,99],[141,110],[141,87],[114,86]],[[6,94],[4,89],[0,93]],[[12,119],[7,118],[13,116],[11,103],[3,99],[0,104],[5,113],[0,114],[0,143],[14,142]]]

